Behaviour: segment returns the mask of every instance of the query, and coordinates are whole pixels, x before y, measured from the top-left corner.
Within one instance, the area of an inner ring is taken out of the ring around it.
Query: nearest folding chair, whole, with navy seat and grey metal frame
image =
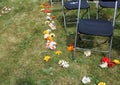
[[[80,6],[81,6],[81,0],[79,1],[79,8],[78,8],[78,18],[77,18],[77,25],[76,25],[76,35],[75,35],[75,43],[74,43],[74,52],[72,58],[75,59],[75,53],[77,50],[91,50],[95,52],[104,52],[108,53],[108,56],[111,56],[112,51],[112,40],[113,40],[113,31],[114,31],[114,25],[115,25],[115,17],[116,17],[116,11],[117,11],[117,3],[118,1],[115,1],[115,7],[114,7],[114,18],[113,22],[108,20],[100,20],[100,19],[80,19]],[[107,3],[107,2],[106,2]],[[110,39],[110,46],[107,50],[98,50],[98,49],[89,49],[84,47],[79,47],[77,44],[78,41],[78,34],[84,34],[84,35],[91,35],[91,36],[100,36],[100,37],[107,37]]]

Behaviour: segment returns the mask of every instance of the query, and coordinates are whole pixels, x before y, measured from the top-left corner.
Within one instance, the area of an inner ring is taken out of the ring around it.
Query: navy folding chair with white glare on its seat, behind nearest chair
[[[67,21],[66,15],[67,15],[68,11],[78,9],[78,2],[79,2],[79,0],[69,0],[69,1],[62,0],[62,11],[63,11],[63,19],[64,19],[64,29],[65,29],[65,31],[66,31],[66,25],[67,24],[77,22],[77,21],[71,21],[71,20]],[[89,6],[87,0],[82,0],[82,5],[81,5],[80,8],[81,9],[87,9],[88,18],[90,18],[90,13],[89,13],[90,6]],[[67,10],[67,12],[65,12],[65,9]]]

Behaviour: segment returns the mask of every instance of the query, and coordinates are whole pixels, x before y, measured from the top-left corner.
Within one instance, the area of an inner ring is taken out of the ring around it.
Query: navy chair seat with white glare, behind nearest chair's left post
[[[73,0],[73,1],[67,1],[67,2],[65,2],[64,3],[64,7],[67,9],[67,10],[75,10],[75,9],[78,9],[78,1],[75,1],[75,0]],[[86,1],[85,0],[82,0],[82,2],[81,2],[81,9],[87,9],[87,8],[89,8],[90,6],[89,6],[89,4],[88,3],[86,3]]]

